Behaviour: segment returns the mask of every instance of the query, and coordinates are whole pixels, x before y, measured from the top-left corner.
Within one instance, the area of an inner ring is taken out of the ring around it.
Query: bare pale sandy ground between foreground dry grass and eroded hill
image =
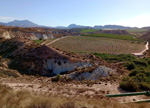
[[[13,90],[29,90],[35,94],[61,94],[66,97],[87,96],[104,98],[106,94],[125,93],[117,82],[100,82],[99,84],[81,84],[76,82],[52,82],[50,78],[1,78],[1,84]],[[146,96],[129,96],[112,98],[120,102],[146,99]]]

